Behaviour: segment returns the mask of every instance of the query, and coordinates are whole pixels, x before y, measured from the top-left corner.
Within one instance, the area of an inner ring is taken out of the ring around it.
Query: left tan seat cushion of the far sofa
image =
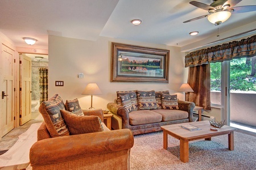
[[[129,113],[130,125],[151,124],[162,121],[162,115],[149,110],[133,111]]]

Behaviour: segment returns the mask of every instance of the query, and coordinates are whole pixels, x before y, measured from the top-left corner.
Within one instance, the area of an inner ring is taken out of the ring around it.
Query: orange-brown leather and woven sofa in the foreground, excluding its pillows
[[[41,113],[44,109],[40,105]],[[101,109],[82,112],[104,120]],[[51,137],[43,122],[38,129],[38,142],[30,149],[32,169],[129,169],[130,148],[134,144],[131,130],[111,131],[102,126],[104,131],[100,132]]]

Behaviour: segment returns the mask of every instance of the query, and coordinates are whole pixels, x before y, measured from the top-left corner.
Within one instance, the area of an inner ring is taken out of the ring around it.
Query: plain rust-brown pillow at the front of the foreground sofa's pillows
[[[98,116],[77,116],[71,112],[61,110],[71,135],[103,131],[101,119]]]

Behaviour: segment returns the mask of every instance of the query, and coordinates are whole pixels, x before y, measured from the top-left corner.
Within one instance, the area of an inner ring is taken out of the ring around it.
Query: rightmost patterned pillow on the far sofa
[[[162,96],[162,107],[163,109],[179,109],[177,103],[177,95],[161,94]]]

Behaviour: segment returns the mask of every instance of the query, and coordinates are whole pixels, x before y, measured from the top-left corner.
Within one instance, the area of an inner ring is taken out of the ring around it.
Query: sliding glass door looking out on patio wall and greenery
[[[256,129],[256,56],[210,63],[211,103],[226,124]]]

